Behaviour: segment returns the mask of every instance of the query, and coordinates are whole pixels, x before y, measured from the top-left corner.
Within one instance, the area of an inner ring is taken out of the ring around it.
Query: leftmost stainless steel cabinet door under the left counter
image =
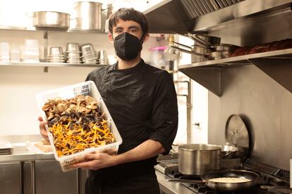
[[[0,193],[21,193],[20,162],[0,163]]]

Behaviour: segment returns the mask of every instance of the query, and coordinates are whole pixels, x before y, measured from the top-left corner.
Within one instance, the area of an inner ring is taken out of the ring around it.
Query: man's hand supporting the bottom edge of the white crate
[[[117,164],[116,156],[107,153],[88,153],[84,156],[83,162],[73,164],[74,168],[82,169],[103,169]]]

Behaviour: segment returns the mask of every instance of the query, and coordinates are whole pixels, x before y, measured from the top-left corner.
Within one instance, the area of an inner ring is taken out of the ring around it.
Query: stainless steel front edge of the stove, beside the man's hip
[[[193,194],[194,192],[181,183],[169,182],[166,179],[170,179],[169,176],[156,171],[157,180],[161,193],[165,194]]]

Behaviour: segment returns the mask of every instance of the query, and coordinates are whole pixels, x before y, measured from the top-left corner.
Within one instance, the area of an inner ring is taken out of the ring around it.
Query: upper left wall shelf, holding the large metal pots
[[[71,29],[61,30],[56,28],[35,28],[35,27],[16,27],[0,25],[0,30],[22,30],[22,31],[51,31],[51,32],[67,32],[67,33],[88,33],[88,34],[105,34],[103,30],[80,30]]]

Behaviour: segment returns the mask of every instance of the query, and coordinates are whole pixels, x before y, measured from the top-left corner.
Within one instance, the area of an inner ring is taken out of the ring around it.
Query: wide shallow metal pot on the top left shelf
[[[51,27],[67,30],[70,26],[70,14],[56,11],[35,11],[32,13],[33,26]]]

